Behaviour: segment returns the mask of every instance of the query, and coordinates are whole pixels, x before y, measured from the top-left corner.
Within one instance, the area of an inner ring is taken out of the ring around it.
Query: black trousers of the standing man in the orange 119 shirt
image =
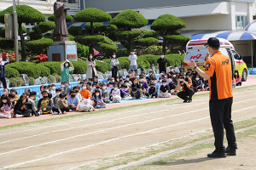
[[[216,151],[223,152],[224,128],[230,148],[237,148],[236,136],[231,120],[231,108],[233,98],[228,99],[212,99],[209,102],[210,116],[212,122],[212,130],[215,138]]]

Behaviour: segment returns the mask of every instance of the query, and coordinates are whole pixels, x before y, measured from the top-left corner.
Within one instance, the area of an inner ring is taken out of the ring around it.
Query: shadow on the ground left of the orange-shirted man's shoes
[[[173,165],[182,165],[182,164],[189,164],[189,163],[197,163],[197,162],[202,162],[202,161],[210,161],[212,159],[208,157],[201,157],[201,158],[196,158],[196,159],[178,159],[178,160],[160,160],[160,161],[154,161],[150,162],[151,165],[165,165],[165,166],[173,166]]]

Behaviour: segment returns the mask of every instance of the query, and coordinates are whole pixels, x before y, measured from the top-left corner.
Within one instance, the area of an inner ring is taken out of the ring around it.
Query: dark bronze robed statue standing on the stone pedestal
[[[56,36],[55,41],[69,41],[66,24],[67,10],[69,9],[62,3],[62,0],[57,0],[54,4],[55,30],[53,33]]]

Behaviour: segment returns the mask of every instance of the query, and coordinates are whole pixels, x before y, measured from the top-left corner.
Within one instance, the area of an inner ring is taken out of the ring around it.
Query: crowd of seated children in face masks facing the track
[[[187,80],[186,85],[182,85],[182,80]],[[39,93],[26,88],[23,94],[18,95],[15,88],[4,88],[0,118],[96,111],[105,108],[108,103],[120,103],[127,97],[155,99],[177,95],[189,101],[193,94],[204,90],[209,90],[209,84],[195,71],[176,72],[173,67],[168,73],[161,72],[158,78],[152,71],[148,76],[143,72],[138,78],[133,77],[130,71],[125,78],[108,78],[108,83],[99,82],[98,77],[91,82],[79,79],[79,84],[73,88],[69,82],[61,82],[60,88],[55,88],[55,84],[41,86]]]

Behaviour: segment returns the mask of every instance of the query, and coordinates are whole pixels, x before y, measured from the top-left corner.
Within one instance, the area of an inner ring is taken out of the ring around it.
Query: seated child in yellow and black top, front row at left
[[[48,92],[44,91],[43,98],[38,101],[38,113],[40,115],[50,113],[52,114],[52,100],[48,98]]]

